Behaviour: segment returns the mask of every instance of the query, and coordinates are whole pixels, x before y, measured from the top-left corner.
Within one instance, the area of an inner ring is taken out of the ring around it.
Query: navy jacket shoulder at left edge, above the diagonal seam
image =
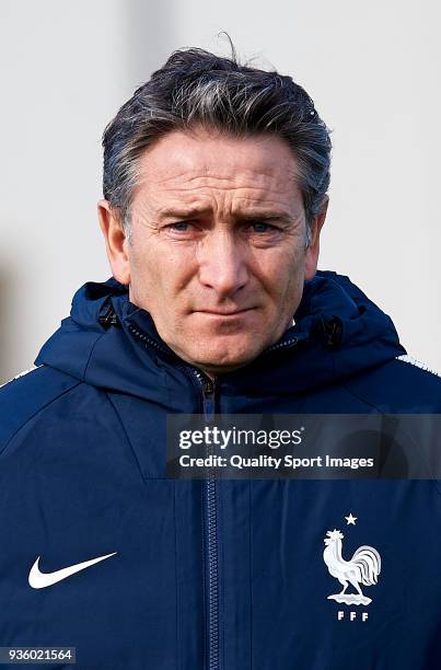
[[[80,380],[40,366],[0,388],[0,452],[33,416],[81,384]]]

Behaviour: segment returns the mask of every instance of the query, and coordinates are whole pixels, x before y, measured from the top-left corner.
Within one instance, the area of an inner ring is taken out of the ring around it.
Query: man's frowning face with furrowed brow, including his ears
[[[105,201],[101,218],[130,301],[181,358],[209,373],[277,342],[316,268],[321,223],[305,250],[297,163],[271,136],[170,132],[140,161],[131,242]]]

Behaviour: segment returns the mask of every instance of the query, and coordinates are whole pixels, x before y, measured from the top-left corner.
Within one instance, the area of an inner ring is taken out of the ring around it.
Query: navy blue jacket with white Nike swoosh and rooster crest
[[[167,413],[441,413],[441,380],[349,279],[317,273],[214,395],[115,280],[77,292],[36,365],[0,390],[0,646],[76,647],[88,670],[441,668],[439,482],[165,477]],[[328,598],[339,551],[369,604]],[[37,557],[104,556],[30,585]]]

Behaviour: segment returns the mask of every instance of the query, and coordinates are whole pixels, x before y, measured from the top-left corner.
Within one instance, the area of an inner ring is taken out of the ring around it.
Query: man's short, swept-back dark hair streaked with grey
[[[307,246],[329,185],[329,130],[291,77],[242,66],[234,49],[231,58],[197,48],[173,53],[105,128],[103,194],[129,238],[141,154],[167,132],[200,125],[236,137],[270,134],[289,145],[300,172]]]

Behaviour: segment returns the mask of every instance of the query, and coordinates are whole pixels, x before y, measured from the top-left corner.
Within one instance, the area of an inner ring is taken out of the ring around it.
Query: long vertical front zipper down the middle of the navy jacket
[[[192,371],[202,391],[204,416],[207,423],[214,418],[216,397],[214,381],[199,370]],[[212,444],[207,448],[207,455],[212,453]],[[214,473],[208,470],[202,481],[206,503],[206,547],[208,557],[208,670],[219,670],[219,551],[218,551],[218,510],[217,481]]]

